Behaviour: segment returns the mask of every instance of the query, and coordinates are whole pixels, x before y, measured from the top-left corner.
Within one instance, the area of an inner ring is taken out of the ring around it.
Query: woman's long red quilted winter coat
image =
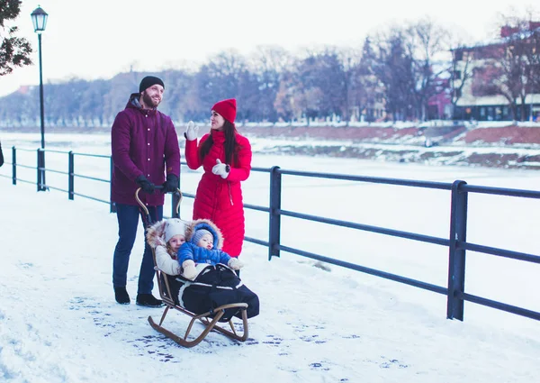
[[[238,257],[244,242],[245,221],[244,203],[240,181],[245,181],[251,171],[251,144],[246,137],[236,134],[238,142],[238,164],[229,164],[229,177],[223,179],[211,172],[216,159],[225,163],[225,133],[212,131],[213,145],[201,162],[199,150],[202,142],[210,134],[202,136],[199,145],[197,140],[185,142],[185,160],[190,169],[204,169],[195,201],[193,203],[193,219],[210,219],[223,234],[223,251],[231,257]]]

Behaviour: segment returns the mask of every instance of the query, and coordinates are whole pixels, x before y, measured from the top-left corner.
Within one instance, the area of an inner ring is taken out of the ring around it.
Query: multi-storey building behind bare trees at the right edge
[[[540,114],[539,49],[540,22],[529,22],[522,28],[503,26],[496,41],[453,50],[454,118],[536,119]]]

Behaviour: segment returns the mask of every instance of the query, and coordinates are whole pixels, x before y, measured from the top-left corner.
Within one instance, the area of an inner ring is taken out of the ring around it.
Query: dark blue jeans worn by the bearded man
[[[148,212],[152,218],[152,223],[163,219],[163,206],[148,206]],[[116,217],[118,219],[118,243],[114,249],[112,259],[112,286],[125,287],[128,277],[128,265],[130,263],[131,249],[137,236],[137,226],[139,225],[139,216],[144,226],[144,254],[140,263],[139,271],[139,290],[138,294],[151,294],[154,287],[154,257],[152,249],[146,242],[146,229],[148,223],[144,215],[140,212],[139,206],[116,204]]]

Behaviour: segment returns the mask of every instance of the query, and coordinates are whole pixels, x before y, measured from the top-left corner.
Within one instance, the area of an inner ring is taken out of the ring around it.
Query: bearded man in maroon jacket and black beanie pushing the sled
[[[125,109],[112,123],[111,200],[116,205],[118,243],[112,260],[112,286],[116,302],[130,303],[126,290],[128,265],[137,236],[139,215],[146,228],[145,216],[135,200],[135,191],[148,207],[153,222],[163,219],[165,193],[174,192],[180,177],[180,150],[175,126],[170,117],[157,111],[165,85],[160,78],[148,76],[140,81],[139,93],[130,96]],[[165,178],[166,170],[166,178]],[[155,186],[162,192],[155,193]],[[137,305],[158,307],[162,301],[152,296],[154,287],[154,259],[145,241],[145,251],[139,271]]]

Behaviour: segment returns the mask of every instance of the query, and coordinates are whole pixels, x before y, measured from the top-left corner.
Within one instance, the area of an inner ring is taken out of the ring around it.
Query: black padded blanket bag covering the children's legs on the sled
[[[169,281],[171,279],[169,277]],[[233,303],[247,303],[248,318],[259,314],[257,294],[247,288],[232,269],[220,263],[206,266],[193,281],[175,278],[171,289],[177,296],[176,304],[196,315]],[[228,322],[232,316],[241,319],[238,307],[226,309],[220,322]]]

